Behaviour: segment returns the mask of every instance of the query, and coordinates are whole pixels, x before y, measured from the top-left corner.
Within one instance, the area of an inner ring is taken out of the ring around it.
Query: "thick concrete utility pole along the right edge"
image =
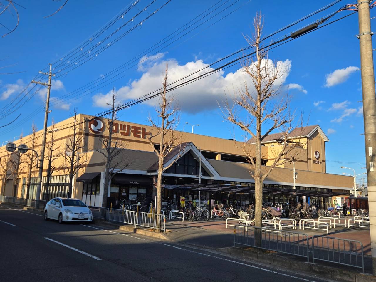
[[[376,97],[373,70],[370,1],[358,0],[360,64],[362,74],[365,160],[367,165],[373,275],[376,276]]]

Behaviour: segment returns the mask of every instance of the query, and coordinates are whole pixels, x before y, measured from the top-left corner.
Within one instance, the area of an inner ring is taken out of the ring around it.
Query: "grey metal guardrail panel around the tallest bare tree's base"
[[[256,244],[258,236],[261,237],[261,246]],[[309,261],[309,241],[306,233],[236,225],[234,247],[237,244],[302,256]]]

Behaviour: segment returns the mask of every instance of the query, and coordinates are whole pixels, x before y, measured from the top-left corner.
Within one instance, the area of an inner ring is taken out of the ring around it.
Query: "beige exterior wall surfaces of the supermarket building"
[[[88,125],[88,118],[91,118],[89,115],[78,115],[79,124],[79,132],[78,135],[83,136],[82,144],[84,145],[83,151],[87,152],[86,157],[88,158],[88,162],[84,168],[82,168],[76,175],[76,177],[80,176],[85,172],[103,172],[104,165],[103,165],[103,156],[98,153],[94,152],[95,149],[102,147],[102,143],[100,143],[100,137],[108,137],[108,120],[102,119],[106,125],[106,129],[101,134],[94,134],[91,130],[89,130]],[[61,121],[55,124],[55,129],[58,129],[55,134],[55,146],[59,149],[55,151],[56,154],[64,153],[66,150],[66,141],[67,138],[73,136],[73,130],[70,128],[72,125],[73,118],[68,118],[67,120]],[[140,151],[147,151],[152,152],[152,147],[149,144],[149,141],[142,136],[142,128],[146,130],[146,132],[152,132],[153,128],[151,126],[142,125],[142,124],[135,124],[135,123],[128,123],[128,122],[118,122],[119,130],[117,133],[114,133],[114,138],[118,140],[124,141],[126,144],[127,149],[131,150],[140,150]],[[122,128],[129,128],[133,132],[130,132],[130,136],[122,135],[121,132],[125,133],[125,130],[120,130],[120,124],[122,124]],[[49,127],[50,128],[50,127]],[[140,136],[137,134],[137,130],[140,130]],[[30,129],[31,131],[31,129]],[[41,147],[42,141],[42,130],[37,132],[38,139],[36,140],[35,150],[39,152]],[[182,142],[193,142],[196,146],[200,147],[202,151],[207,152],[214,152],[217,154],[217,159],[221,158],[221,154],[227,155],[236,155],[236,156],[244,156],[244,153],[241,149],[244,146],[244,143],[237,142],[233,140],[215,138],[211,136],[205,135],[198,135],[192,134],[187,132],[177,132],[180,135],[180,140]],[[138,136],[138,137],[137,137]],[[23,138],[22,143],[30,145],[31,136],[25,136]],[[47,135],[47,144],[50,141],[49,135]],[[154,142],[158,143],[158,138],[155,138]],[[303,144],[302,149],[300,151],[300,157],[295,162],[295,168],[298,172],[299,179],[296,182],[296,185],[324,185],[324,186],[338,186],[338,187],[352,187],[352,179],[347,176],[342,175],[335,175],[335,174],[326,174],[325,170],[325,144],[323,138],[320,134],[315,133],[308,141],[300,139],[300,142]],[[16,144],[20,144],[20,140],[16,141]],[[268,159],[268,164],[271,164],[273,158],[279,153],[280,146],[271,146],[268,144],[267,146],[262,146],[262,155],[263,158]],[[248,149],[252,151],[254,145],[247,144]],[[318,150],[320,152],[320,160],[322,164],[312,164],[312,156],[314,158],[314,152]],[[46,150],[46,154],[47,154]],[[83,152],[80,152],[83,153]],[[1,156],[6,154],[5,146],[0,147],[0,158]],[[24,155],[21,155],[21,162],[25,158]],[[55,167],[62,168],[59,171],[53,173],[53,175],[63,175],[68,174],[64,167],[66,167],[66,163],[64,161],[64,157],[60,156],[56,159],[53,163]],[[244,165],[244,164],[239,164]],[[282,168],[276,168],[272,171],[270,176],[268,176],[268,181],[273,182],[293,182],[292,176],[292,168],[293,165],[287,163],[283,165]],[[17,196],[21,196],[21,185],[22,185],[22,178],[26,177],[26,170],[23,168],[24,173],[20,176],[20,183],[17,189]],[[307,171],[312,170],[312,171]],[[47,159],[44,162],[44,176],[45,171],[47,171]],[[32,170],[32,177],[38,176],[38,170],[34,167]],[[0,180],[3,181],[3,180]],[[12,182],[13,180],[9,180],[6,185],[5,194],[8,196],[12,196]],[[80,197],[82,195],[82,182],[74,182],[74,196]]]

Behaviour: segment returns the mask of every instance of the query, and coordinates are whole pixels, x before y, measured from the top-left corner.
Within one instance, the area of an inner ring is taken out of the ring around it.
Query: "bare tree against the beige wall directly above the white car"
[[[81,152],[83,147],[83,135],[80,132],[79,120],[77,117],[77,109],[74,109],[73,125],[71,126],[70,137],[67,138],[65,146],[65,152],[62,153],[65,162],[64,170],[67,171],[69,175],[69,192],[68,197],[72,197],[73,191],[73,178],[76,173],[82,168],[88,159],[86,158],[86,153]]]

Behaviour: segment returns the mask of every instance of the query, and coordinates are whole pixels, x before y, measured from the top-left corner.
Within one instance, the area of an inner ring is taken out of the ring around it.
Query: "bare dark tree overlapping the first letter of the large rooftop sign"
[[[112,140],[112,134],[119,132],[119,125],[118,123],[115,123],[117,120],[117,107],[115,106],[115,100],[116,92],[114,88],[112,89],[111,114],[109,114],[108,117],[108,138],[99,138],[100,142],[103,144],[103,149],[101,148],[97,150],[97,152],[103,155],[103,161],[105,162],[105,183],[102,201],[102,206],[104,208],[107,206],[108,185],[111,182],[111,179],[115,174],[123,171],[129,165],[129,160],[118,158],[118,155],[123,149],[126,149],[128,144],[120,140]]]

